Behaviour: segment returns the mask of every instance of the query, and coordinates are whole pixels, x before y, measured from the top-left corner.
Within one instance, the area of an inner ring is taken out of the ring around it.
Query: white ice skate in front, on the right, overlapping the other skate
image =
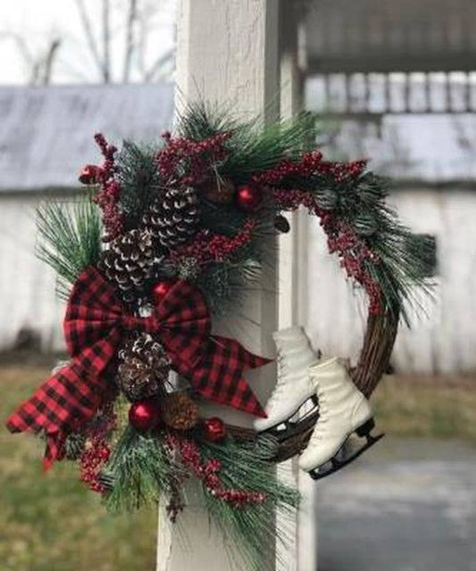
[[[316,363],[309,376],[319,401],[319,418],[307,448],[299,458],[299,468],[318,480],[330,476],[373,446],[383,434],[372,436],[372,409],[337,358]],[[351,434],[365,437],[366,443],[346,457]]]

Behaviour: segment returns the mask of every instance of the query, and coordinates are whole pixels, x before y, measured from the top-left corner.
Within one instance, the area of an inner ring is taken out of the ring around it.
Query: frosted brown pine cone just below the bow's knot
[[[138,401],[163,391],[171,360],[161,343],[141,333],[131,337],[119,352],[117,385],[129,401]]]

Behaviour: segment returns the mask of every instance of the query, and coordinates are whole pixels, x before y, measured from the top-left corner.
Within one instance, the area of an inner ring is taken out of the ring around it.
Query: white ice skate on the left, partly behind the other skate
[[[309,365],[315,362],[317,355],[302,327],[288,327],[273,334],[273,338],[278,349],[278,382],[264,407],[268,418],[255,419],[255,430],[268,431],[283,440],[296,433],[302,418],[296,422],[290,418],[305,401],[313,399],[313,410],[317,413],[317,397],[308,375]],[[312,410],[308,411],[306,418],[311,413]]]

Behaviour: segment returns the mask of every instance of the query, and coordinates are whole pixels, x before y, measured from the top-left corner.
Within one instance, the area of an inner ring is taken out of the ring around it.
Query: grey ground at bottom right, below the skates
[[[474,445],[387,437],[319,485],[319,571],[476,571]]]

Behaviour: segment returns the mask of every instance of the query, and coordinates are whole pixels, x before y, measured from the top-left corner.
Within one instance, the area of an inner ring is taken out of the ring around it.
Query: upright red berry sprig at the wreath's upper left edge
[[[114,155],[117,149],[114,145],[108,145],[101,133],[95,135],[96,144],[101,149],[104,162],[97,173],[97,181],[101,185],[94,202],[103,211],[103,222],[106,231],[104,241],[109,242],[122,232],[122,216],[118,209],[121,194],[121,185],[114,178],[115,163]]]

